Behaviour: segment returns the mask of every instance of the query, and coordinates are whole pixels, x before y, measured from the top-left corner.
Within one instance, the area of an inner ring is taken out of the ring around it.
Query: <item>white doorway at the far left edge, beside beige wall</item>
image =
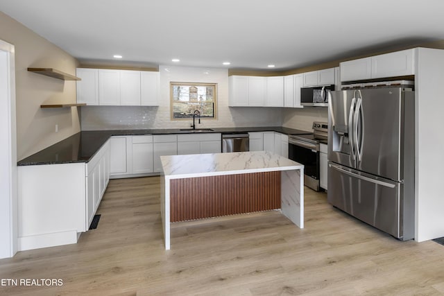
[[[15,51],[0,40],[0,258],[17,252]]]

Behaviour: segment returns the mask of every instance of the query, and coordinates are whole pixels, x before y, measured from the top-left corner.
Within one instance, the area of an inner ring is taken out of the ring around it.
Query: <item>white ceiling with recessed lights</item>
[[[121,54],[283,70],[444,40],[443,0],[0,0],[0,9],[80,62]]]

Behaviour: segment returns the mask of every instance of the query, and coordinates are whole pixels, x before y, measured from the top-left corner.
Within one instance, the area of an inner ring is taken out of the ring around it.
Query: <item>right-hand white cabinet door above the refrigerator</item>
[[[407,76],[415,73],[414,49],[372,57],[372,78]]]

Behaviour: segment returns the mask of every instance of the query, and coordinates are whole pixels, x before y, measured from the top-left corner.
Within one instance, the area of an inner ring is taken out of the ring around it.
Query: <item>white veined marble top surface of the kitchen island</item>
[[[170,155],[161,156],[160,160],[164,175],[170,179],[304,168],[298,162],[269,151]]]

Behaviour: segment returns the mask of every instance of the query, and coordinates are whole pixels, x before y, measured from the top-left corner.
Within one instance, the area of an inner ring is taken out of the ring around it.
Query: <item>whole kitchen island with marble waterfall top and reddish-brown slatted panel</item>
[[[165,249],[170,223],[280,209],[304,227],[304,166],[268,151],[161,156]]]

